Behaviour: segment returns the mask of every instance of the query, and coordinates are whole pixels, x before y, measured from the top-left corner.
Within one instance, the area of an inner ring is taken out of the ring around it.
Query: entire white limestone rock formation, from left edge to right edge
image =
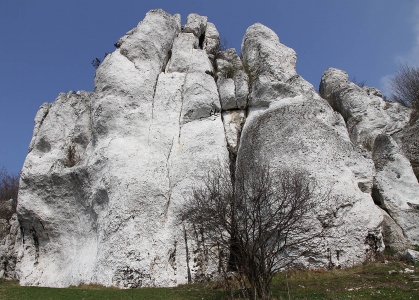
[[[234,172],[249,157],[302,170],[330,192],[335,226],[298,266],[362,263],[384,249],[382,226],[394,245],[417,243],[417,180],[390,137],[408,109],[336,69],[322,77],[324,100],[296,73],[294,50],[262,24],[246,31],[241,58],[221,49],[206,17],[182,26],[162,10],[115,46],[93,93],[60,94],[35,117],[17,215],[3,222],[3,275],[53,287],[217,278],[178,212],[214,166]]]

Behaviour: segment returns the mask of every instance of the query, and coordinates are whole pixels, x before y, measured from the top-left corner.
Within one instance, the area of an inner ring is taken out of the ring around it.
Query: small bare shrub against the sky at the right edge
[[[396,75],[389,81],[392,98],[405,106],[419,110],[419,68],[400,64]]]

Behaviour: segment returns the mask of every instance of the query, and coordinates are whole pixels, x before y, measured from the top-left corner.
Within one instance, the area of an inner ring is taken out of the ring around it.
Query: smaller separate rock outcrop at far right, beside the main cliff
[[[415,134],[412,134],[415,125],[409,124],[410,109],[384,101],[377,89],[358,87],[338,69],[324,72],[320,94],[342,114],[352,142],[371,153],[375,167],[372,196],[400,226],[403,236],[396,240],[407,239],[418,244],[419,184],[412,168],[417,158]],[[384,227],[388,229],[389,224],[386,221]]]

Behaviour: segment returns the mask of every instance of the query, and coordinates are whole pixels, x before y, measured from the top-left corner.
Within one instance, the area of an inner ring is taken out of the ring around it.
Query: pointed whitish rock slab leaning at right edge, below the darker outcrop
[[[388,211],[410,242],[419,244],[419,184],[409,160],[385,134],[375,139],[373,159],[375,201]]]

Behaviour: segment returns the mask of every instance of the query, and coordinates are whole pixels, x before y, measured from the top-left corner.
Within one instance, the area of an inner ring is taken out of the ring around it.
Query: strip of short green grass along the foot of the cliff
[[[409,268],[414,273],[400,271]],[[390,271],[396,271],[390,274]],[[419,265],[403,261],[374,262],[349,269],[289,271],[272,282],[274,299],[419,299]],[[66,289],[21,287],[0,280],[0,299],[223,299],[218,283],[182,285],[176,288],[120,290],[97,285]]]

